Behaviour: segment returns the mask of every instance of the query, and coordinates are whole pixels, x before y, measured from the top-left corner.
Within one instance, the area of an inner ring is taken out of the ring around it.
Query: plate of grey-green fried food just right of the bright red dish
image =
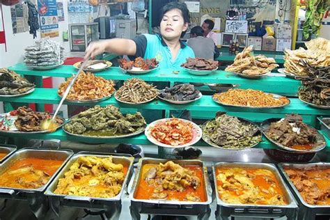
[[[212,120],[202,126],[203,140],[210,146],[225,150],[253,148],[262,141],[258,125],[244,118],[228,116],[218,112]]]

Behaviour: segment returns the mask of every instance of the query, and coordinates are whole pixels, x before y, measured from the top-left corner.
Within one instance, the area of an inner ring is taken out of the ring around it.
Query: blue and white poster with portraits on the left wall
[[[58,37],[58,16],[56,0],[38,0],[41,37]]]

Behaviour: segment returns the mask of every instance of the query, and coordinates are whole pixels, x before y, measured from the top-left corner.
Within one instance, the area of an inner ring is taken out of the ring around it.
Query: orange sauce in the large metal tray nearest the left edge
[[[10,171],[15,171],[23,166],[32,165],[36,170],[44,171],[52,176],[57,169],[63,164],[62,160],[53,159],[39,159],[39,158],[23,158],[17,159],[4,173],[0,175],[0,187],[13,187],[22,188],[17,182],[19,177],[29,179],[30,173],[24,173],[24,175],[9,174]]]

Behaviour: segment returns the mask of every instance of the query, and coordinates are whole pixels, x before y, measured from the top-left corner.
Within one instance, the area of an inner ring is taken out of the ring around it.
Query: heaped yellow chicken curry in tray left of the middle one
[[[127,170],[112,157],[81,156],[58,180],[54,193],[111,198],[120,193]]]

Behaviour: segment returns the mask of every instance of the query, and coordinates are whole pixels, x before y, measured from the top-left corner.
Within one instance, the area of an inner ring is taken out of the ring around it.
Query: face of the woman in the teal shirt
[[[180,38],[182,31],[187,31],[188,23],[184,23],[181,10],[169,10],[160,22],[160,33],[166,40]]]

